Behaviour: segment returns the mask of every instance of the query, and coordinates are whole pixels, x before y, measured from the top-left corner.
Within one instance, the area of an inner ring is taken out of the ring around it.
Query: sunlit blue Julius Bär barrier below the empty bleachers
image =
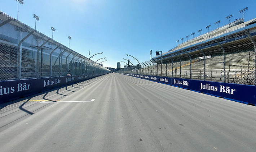
[[[251,103],[256,105],[256,86],[242,84],[209,82],[202,80],[169,78],[141,74],[125,74],[132,77],[151,80],[159,83],[169,84],[180,88],[190,89],[196,92],[202,92],[208,95],[223,97],[228,100],[241,103]]]

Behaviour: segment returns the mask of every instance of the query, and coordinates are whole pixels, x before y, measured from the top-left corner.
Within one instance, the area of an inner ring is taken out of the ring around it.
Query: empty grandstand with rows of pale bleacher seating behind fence
[[[236,20],[153,57],[151,67],[126,72],[255,86],[255,23]]]

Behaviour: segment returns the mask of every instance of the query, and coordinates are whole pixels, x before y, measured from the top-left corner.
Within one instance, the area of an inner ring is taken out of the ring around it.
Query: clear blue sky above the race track
[[[0,0],[0,10],[17,19],[16,0]],[[33,14],[40,17],[36,30],[52,37],[70,49],[91,58],[101,59],[103,66],[116,68],[117,62],[132,55],[140,62],[150,60],[150,50],[166,52],[177,46],[177,40],[233,15],[230,22],[243,18],[238,11],[248,7],[245,21],[256,18],[256,0],[24,0],[19,4],[19,21],[35,28]],[[201,33],[201,34],[202,34]],[[100,63],[99,61],[97,63]]]

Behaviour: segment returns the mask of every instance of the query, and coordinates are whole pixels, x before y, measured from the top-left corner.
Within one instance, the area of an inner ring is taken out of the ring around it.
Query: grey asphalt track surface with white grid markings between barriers
[[[255,152],[256,107],[107,74],[1,104],[0,151]]]

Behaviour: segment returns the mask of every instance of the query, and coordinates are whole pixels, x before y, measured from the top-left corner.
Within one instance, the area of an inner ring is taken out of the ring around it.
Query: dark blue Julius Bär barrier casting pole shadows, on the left
[[[0,104],[104,74],[68,75],[63,77],[2,81],[0,84]]]

